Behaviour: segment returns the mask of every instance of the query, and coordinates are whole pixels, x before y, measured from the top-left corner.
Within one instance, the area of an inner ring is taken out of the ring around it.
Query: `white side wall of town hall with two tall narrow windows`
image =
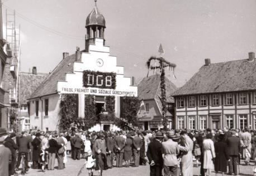
[[[49,100],[48,116],[45,115],[45,99]],[[36,116],[36,101],[39,101],[39,115]],[[30,100],[30,129],[58,130],[59,128],[60,95],[44,96],[41,99]]]

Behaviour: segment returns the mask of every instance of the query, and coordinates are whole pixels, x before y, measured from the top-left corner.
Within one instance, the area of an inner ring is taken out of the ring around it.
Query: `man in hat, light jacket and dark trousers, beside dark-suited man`
[[[163,142],[163,158],[164,158],[164,175],[177,175],[178,174],[178,159],[179,145],[174,142],[172,138],[175,136],[174,131],[167,133],[167,141]]]

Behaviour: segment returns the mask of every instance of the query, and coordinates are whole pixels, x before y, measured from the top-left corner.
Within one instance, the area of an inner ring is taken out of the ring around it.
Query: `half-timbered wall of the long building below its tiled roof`
[[[216,121],[219,121],[218,128],[222,129],[224,126],[235,129],[243,129],[245,126],[249,126],[251,129],[256,129],[256,102],[254,98],[254,91],[246,92],[246,104],[239,103],[239,93],[231,92],[233,94],[233,104],[226,104],[226,94],[219,95],[219,105],[212,105],[212,95],[206,94],[207,105],[200,106],[200,95],[195,95],[196,105],[189,107],[188,96],[184,96],[184,107],[177,107],[178,97],[176,99],[176,128],[181,127],[179,119],[184,119],[184,128],[189,126],[189,118],[195,118],[195,129],[201,129],[201,118],[206,118],[205,128],[215,128]],[[204,94],[205,95],[205,94]],[[219,120],[216,118],[219,116]],[[243,120],[243,116],[245,116]],[[229,118],[230,117],[230,118]],[[231,123],[228,123],[227,118],[231,119]],[[246,123],[245,123],[246,121]]]

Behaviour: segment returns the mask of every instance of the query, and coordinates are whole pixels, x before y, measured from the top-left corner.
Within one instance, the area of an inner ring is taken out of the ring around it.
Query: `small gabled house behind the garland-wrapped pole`
[[[173,92],[176,86],[165,77],[166,102],[168,119],[167,128],[174,128],[174,98]],[[138,84],[138,97],[140,110],[138,113],[138,124],[144,130],[158,130],[163,128],[162,102],[160,90],[160,75],[144,77]]]

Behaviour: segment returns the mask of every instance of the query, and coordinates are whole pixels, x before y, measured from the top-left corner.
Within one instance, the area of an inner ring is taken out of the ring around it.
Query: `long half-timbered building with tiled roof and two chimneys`
[[[174,92],[177,129],[256,129],[256,60],[205,65]]]

